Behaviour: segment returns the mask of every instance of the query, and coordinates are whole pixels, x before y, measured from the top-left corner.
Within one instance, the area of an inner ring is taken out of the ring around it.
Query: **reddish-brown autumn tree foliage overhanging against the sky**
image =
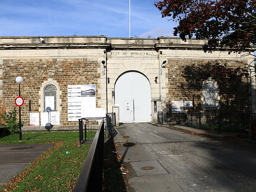
[[[225,48],[230,54],[256,46],[255,0],[162,0],[155,6],[163,18],[179,22],[174,36],[208,39],[204,52]]]

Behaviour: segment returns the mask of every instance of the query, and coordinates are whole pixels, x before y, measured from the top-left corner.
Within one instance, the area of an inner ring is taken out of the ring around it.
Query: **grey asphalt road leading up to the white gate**
[[[256,191],[256,148],[251,143],[211,140],[148,123],[124,124],[130,143],[124,156],[129,191]]]

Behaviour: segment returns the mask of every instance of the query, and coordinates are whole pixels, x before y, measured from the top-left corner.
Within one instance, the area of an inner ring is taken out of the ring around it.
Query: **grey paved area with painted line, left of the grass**
[[[0,188],[53,145],[0,145]]]

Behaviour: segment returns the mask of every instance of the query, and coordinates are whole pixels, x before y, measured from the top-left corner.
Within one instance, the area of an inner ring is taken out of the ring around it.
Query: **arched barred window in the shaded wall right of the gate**
[[[208,83],[204,87],[205,107],[216,107],[216,87]]]

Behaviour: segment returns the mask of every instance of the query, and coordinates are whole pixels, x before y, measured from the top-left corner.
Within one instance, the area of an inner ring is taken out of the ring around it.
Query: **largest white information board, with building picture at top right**
[[[96,116],[96,85],[68,85],[68,121]]]

